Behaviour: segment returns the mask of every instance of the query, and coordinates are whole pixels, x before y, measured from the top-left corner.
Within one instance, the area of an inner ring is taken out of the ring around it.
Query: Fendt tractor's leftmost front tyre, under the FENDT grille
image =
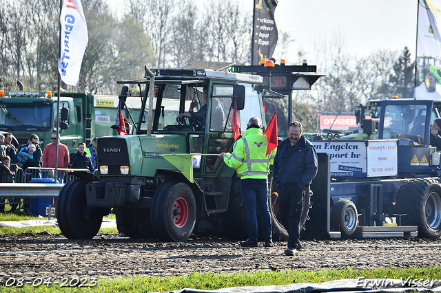
[[[103,210],[88,207],[85,197],[87,181],[72,180],[59,193],[57,219],[61,232],[68,239],[92,239],[103,221]]]

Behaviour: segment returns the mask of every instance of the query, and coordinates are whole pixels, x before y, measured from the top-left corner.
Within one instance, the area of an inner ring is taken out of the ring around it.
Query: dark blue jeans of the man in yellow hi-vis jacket
[[[242,179],[240,180],[240,193],[247,210],[249,240],[257,241],[257,215],[260,215],[262,232],[265,241],[272,239],[271,215],[268,208],[268,180],[267,179]]]

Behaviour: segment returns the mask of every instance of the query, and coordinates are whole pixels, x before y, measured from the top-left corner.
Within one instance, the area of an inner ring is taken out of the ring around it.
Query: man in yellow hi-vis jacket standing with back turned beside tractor
[[[273,164],[276,149],[267,153],[268,139],[260,130],[260,120],[249,118],[243,138],[233,146],[233,153],[220,153],[225,164],[236,169],[240,177],[240,193],[247,210],[249,239],[240,243],[242,247],[257,247],[257,215],[262,223],[265,247],[273,246],[271,215],[268,208],[268,173]]]

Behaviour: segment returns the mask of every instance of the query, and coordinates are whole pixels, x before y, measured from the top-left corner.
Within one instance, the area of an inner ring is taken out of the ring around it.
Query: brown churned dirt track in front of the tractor
[[[9,278],[61,280],[72,277],[173,276],[192,272],[254,272],[257,270],[337,270],[343,268],[407,268],[440,265],[440,239],[307,240],[294,257],[274,248],[240,248],[238,241],[216,237],[190,238],[185,243],[130,239],[116,234],[88,241],[63,235],[0,237],[0,281]],[[3,283],[4,284],[4,283]]]

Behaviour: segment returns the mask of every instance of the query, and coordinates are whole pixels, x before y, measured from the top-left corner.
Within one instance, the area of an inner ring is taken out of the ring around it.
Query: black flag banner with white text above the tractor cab
[[[251,65],[259,65],[263,58],[273,56],[278,38],[274,21],[276,6],[276,0],[254,0]]]

